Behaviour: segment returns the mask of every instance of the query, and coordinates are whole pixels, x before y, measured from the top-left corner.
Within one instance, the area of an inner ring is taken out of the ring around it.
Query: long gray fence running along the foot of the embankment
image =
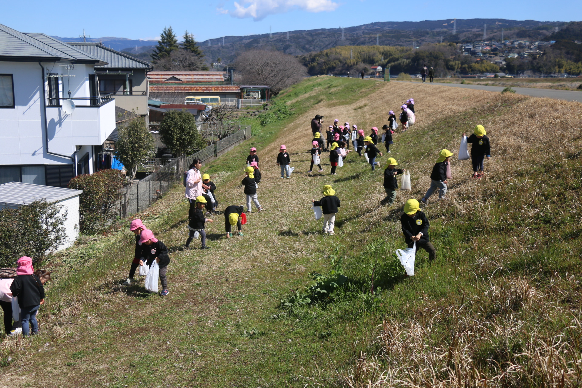
[[[251,126],[242,126],[239,131],[232,135],[201,149],[196,154],[185,156],[173,160],[171,163],[161,166],[144,179],[136,182],[129,188],[127,198],[127,215],[132,215],[150,207],[155,201],[162,197],[175,184],[182,184],[184,171],[190,163],[198,158],[201,161],[209,162],[217,156],[229,151],[230,148],[239,144],[241,141],[250,138]],[[182,169],[179,166],[184,166]],[[125,193],[126,188],[123,188]],[[122,202],[120,202],[120,214],[122,211]]]

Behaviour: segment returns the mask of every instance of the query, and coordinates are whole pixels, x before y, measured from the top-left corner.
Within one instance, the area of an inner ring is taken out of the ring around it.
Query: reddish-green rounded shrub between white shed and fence
[[[115,218],[124,182],[116,169],[78,175],[70,180],[69,188],[83,190],[79,197],[81,232],[95,233],[108,219]]]

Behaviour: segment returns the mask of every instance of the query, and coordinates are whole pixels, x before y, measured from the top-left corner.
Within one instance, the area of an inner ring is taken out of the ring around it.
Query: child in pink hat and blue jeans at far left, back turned
[[[37,275],[34,275],[33,259],[23,256],[16,262],[16,274],[14,281],[10,285],[12,296],[18,298],[20,307],[20,322],[22,323],[22,335],[30,335],[30,325],[32,324],[32,334],[38,333],[38,322],[36,313],[41,304],[44,304],[44,287]]]

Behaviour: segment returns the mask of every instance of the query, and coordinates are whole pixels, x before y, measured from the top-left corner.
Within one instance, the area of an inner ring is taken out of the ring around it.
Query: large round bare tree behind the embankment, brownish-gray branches
[[[235,66],[243,84],[270,86],[274,95],[307,76],[307,68],[297,58],[281,51],[246,51],[236,58]]]

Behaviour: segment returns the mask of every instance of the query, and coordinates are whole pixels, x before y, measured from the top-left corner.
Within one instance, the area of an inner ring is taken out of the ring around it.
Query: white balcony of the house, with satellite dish
[[[115,129],[112,96],[71,99],[76,105],[71,115],[60,105],[47,106],[49,149],[58,154],[70,155],[76,151],[76,145],[101,145]],[[50,102],[54,104],[55,99]]]

